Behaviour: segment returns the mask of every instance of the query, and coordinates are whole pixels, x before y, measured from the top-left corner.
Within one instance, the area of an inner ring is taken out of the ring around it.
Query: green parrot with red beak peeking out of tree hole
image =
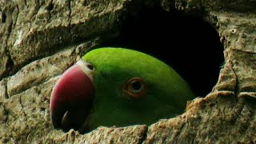
[[[99,47],[58,78],[50,94],[54,129],[151,125],[186,110],[187,82],[158,58],[124,47]]]

